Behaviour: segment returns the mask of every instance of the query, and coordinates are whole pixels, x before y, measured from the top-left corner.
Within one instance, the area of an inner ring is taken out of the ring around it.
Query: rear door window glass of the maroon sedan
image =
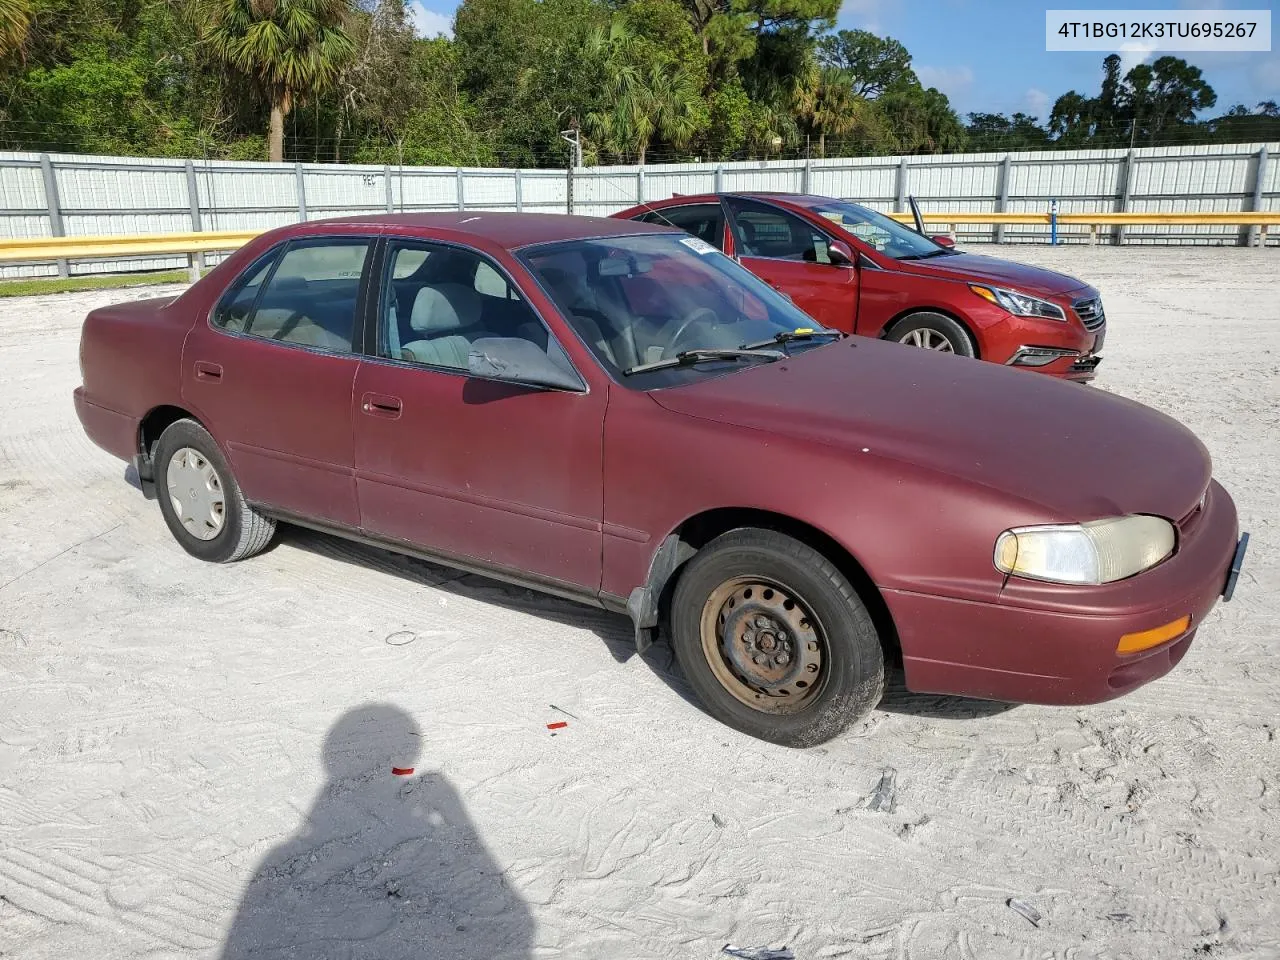
[[[291,243],[233,287],[214,324],[262,339],[349,353],[367,239]]]

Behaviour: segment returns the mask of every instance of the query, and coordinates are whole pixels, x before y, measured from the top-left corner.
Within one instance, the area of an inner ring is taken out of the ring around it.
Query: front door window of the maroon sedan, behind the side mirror
[[[572,369],[529,303],[480,253],[393,242],[379,305],[378,355],[465,371],[471,344],[516,338]]]

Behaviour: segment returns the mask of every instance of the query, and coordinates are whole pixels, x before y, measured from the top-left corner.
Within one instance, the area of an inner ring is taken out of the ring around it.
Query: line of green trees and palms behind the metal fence
[[[838,0],[0,0],[0,147],[376,164],[589,163],[1280,138],[1161,56],[1047,116],[969,114]],[[269,119],[268,119],[269,118]]]

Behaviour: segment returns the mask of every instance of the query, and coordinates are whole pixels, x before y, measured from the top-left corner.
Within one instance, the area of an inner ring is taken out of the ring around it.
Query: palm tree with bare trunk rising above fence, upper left
[[[284,159],[284,118],[294,101],[324,92],[351,56],[349,10],[349,0],[214,0],[205,42],[252,77],[271,105],[273,163]]]

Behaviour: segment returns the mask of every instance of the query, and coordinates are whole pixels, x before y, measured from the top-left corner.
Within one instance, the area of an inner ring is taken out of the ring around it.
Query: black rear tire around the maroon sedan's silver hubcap
[[[211,539],[202,540],[183,526],[173,504],[166,483],[166,471],[173,456],[189,448],[204,457],[218,476],[223,495],[221,529]],[[261,553],[275,535],[275,521],[265,517],[244,502],[239,484],[232,475],[227,458],[223,457],[214,438],[195,420],[178,420],[170,424],[152,449],[151,461],[155,471],[156,499],[169,532],[192,557],[211,563],[230,563],[232,561]]]

